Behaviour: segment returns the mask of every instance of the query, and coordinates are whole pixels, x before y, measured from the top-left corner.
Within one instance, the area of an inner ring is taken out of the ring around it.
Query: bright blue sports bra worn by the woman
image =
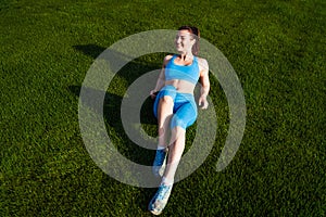
[[[199,79],[198,59],[193,56],[191,65],[177,65],[174,63],[176,56],[173,55],[165,66],[165,80],[180,79],[196,85]]]

